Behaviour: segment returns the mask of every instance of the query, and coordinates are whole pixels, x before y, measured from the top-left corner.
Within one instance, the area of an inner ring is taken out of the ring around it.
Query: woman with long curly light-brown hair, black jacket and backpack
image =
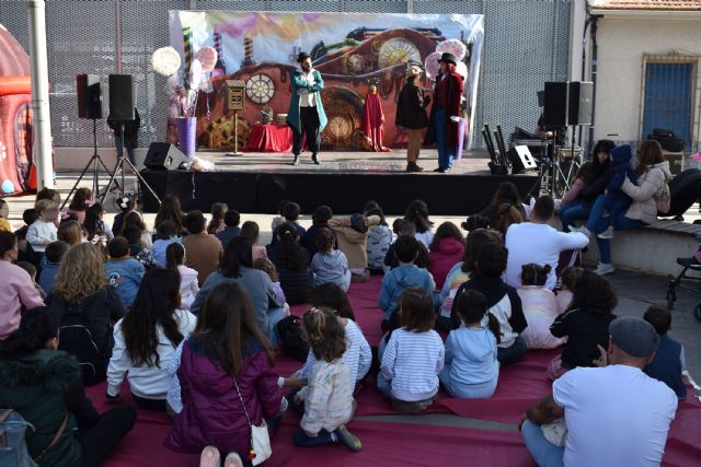
[[[104,256],[95,245],[82,243],[66,253],[46,304],[60,328],[59,348],[78,359],[83,384],[103,381],[114,347],[112,326],[126,310],[107,285]]]

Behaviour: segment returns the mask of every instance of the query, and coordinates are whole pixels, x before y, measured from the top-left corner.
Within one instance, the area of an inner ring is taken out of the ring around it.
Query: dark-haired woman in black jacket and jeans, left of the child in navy
[[[577,195],[575,200],[560,210],[563,232],[568,232],[574,221],[588,219],[589,211],[596,198],[604,194],[611,177],[611,150],[616,147],[613,141],[599,140],[594,147],[593,167],[590,183]]]

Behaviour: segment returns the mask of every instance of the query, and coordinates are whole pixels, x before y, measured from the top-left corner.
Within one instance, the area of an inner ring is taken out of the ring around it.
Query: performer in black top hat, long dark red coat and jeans
[[[434,103],[430,106],[428,131],[425,144],[438,145],[438,168],[434,172],[446,173],[452,168],[452,159],[458,148],[460,121],[460,102],[462,98],[462,77],[456,71],[458,59],[444,52],[438,60],[438,77],[434,90]]]

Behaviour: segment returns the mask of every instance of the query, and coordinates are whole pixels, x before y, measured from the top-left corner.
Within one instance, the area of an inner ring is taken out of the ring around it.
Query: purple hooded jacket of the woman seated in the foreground
[[[211,444],[222,453],[235,452],[245,458],[251,434],[233,380],[216,359],[193,347],[192,339],[183,346],[177,370],[183,410],[163,444],[193,454]],[[283,393],[267,353],[257,342],[250,347],[235,381],[251,423],[260,425],[278,411]]]

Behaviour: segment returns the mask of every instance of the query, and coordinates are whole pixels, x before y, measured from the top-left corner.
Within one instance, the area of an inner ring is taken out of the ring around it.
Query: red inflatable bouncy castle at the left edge
[[[0,24],[0,195],[36,188],[32,171],[30,57]],[[32,182],[32,183],[31,183]],[[33,186],[31,186],[33,185]]]

